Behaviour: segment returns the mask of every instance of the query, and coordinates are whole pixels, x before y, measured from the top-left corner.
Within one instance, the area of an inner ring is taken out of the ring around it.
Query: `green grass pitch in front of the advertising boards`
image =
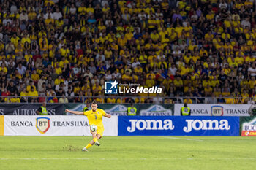
[[[256,169],[256,138],[241,136],[1,136],[0,169]]]

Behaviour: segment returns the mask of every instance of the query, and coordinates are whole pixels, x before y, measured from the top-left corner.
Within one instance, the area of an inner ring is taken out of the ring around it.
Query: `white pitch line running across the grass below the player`
[[[12,161],[12,160],[21,160],[21,161],[31,161],[31,160],[256,160],[256,158],[0,158],[0,161]]]

